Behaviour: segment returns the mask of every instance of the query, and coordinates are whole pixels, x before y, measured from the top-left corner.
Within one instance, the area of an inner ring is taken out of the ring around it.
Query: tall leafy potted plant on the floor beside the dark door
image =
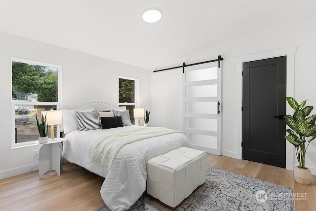
[[[296,158],[299,166],[294,168],[294,178],[298,183],[308,185],[313,177],[311,171],[305,167],[305,155],[311,141],[316,138],[316,115],[310,115],[313,106],[305,106],[306,100],[300,105],[291,97],[286,97],[288,104],[295,110],[293,116],[284,116],[288,133],[285,139],[295,146]]]

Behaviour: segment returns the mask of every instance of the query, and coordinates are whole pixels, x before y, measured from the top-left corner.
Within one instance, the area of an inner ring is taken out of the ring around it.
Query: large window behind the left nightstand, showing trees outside
[[[12,59],[12,146],[38,140],[35,115],[40,118],[42,110],[57,108],[60,69],[60,66]]]

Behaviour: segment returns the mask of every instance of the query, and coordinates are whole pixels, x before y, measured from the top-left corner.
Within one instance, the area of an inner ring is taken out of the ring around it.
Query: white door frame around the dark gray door
[[[235,59],[237,63],[237,86],[236,86],[236,96],[237,96],[237,118],[236,118],[236,127],[237,127],[237,158],[242,159],[242,63],[251,62],[261,59],[269,59],[273,57],[286,56],[286,96],[294,96],[294,55],[296,53],[296,46],[282,48],[278,50],[266,51],[262,53],[250,54],[246,56],[240,56]],[[286,113],[292,113],[291,107],[286,104]],[[285,140],[284,140],[285,141]],[[286,169],[294,169],[294,147],[291,143],[286,141]]]

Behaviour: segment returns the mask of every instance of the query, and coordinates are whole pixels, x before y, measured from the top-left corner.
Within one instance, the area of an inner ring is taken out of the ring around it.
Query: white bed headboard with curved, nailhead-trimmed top
[[[57,109],[58,110],[87,110],[91,109],[97,111],[104,111],[104,110],[111,110],[111,109],[116,109],[116,110],[125,110],[125,106],[113,106],[111,104],[105,103],[105,102],[90,102],[90,103],[85,103],[80,106],[59,106]],[[57,127],[57,133],[60,134],[64,132],[64,127],[63,124],[60,124],[59,127]],[[60,134],[61,137],[63,137],[62,134]]]

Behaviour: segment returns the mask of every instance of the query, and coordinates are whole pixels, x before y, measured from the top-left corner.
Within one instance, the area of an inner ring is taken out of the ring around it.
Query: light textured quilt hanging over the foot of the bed
[[[191,147],[182,133],[126,144],[119,150],[100,193],[111,211],[130,208],[146,190],[147,161],[181,146]]]

